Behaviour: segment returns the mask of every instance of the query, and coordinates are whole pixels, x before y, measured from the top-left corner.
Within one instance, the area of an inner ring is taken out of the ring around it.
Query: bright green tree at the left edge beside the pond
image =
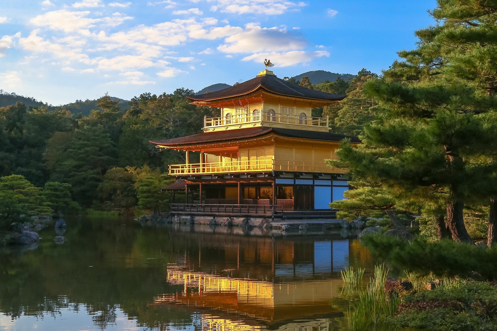
[[[0,227],[5,227],[21,215],[50,215],[50,203],[35,187],[21,175],[0,178]]]

